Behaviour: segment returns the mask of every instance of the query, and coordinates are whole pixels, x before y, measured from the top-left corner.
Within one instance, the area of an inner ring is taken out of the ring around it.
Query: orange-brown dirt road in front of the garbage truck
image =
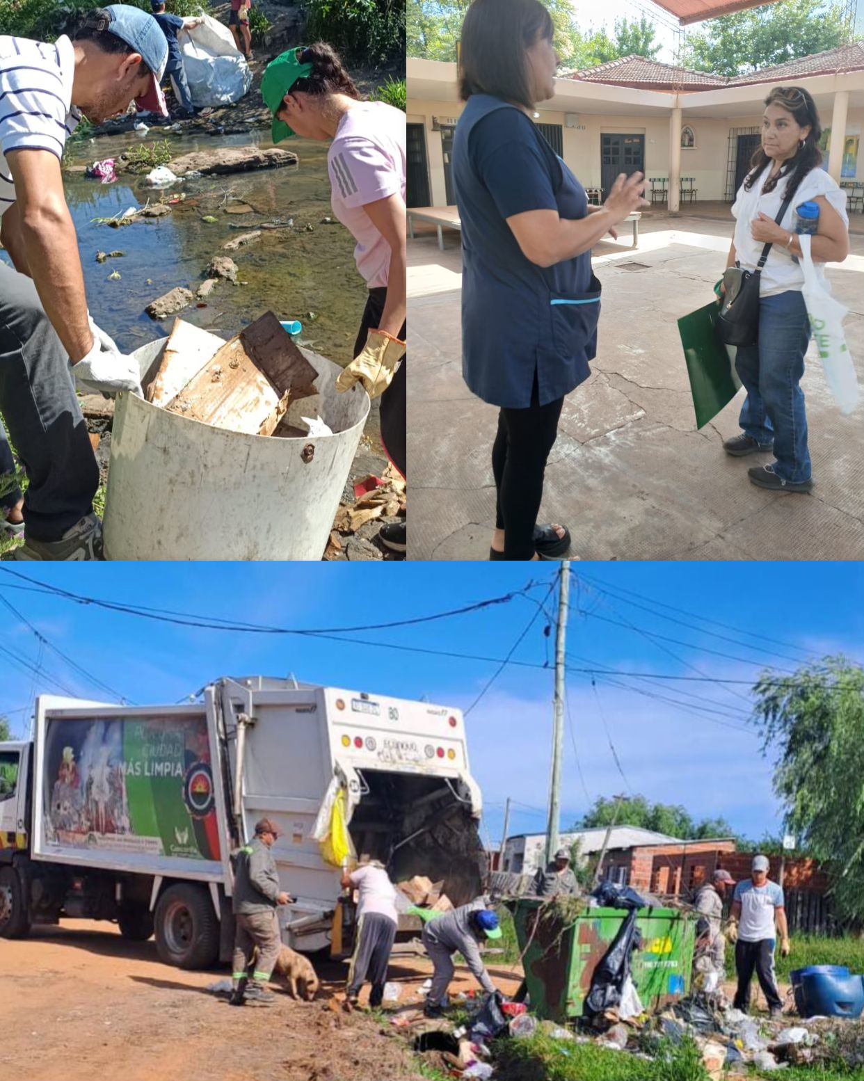
[[[490,972],[515,990],[513,972]],[[279,995],[273,1006],[238,1010],[207,990],[226,972],[167,967],[152,939],[128,943],[109,924],[64,920],[0,939],[0,1075],[16,1081],[422,1081],[402,1033],[337,1009],[343,965],[319,966],[314,1002]],[[391,966],[401,1011],[422,1003],[429,973],[425,958]],[[460,974],[452,990],[473,986]]]

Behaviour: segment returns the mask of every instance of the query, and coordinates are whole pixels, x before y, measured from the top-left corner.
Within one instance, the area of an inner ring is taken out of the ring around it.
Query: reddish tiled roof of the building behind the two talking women
[[[721,86],[743,86],[758,82],[779,82],[801,79],[813,75],[833,75],[836,71],[864,70],[864,41],[851,45],[828,49],[812,56],[775,64],[770,68],[739,75],[732,79],[708,71],[691,71],[689,68],[661,64],[643,56],[622,56],[582,71],[571,71],[561,76],[581,82],[604,82],[624,86],[646,86],[656,90],[708,90]]]

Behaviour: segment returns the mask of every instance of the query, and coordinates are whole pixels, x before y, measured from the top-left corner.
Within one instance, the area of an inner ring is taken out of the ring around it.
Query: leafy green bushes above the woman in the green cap
[[[307,0],[306,39],[330,42],[367,64],[404,56],[406,9],[401,0]]]

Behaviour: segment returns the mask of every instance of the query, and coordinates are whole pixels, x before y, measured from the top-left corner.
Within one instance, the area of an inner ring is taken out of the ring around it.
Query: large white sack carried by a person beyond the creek
[[[252,72],[237,51],[227,26],[203,15],[200,26],[177,31],[183,69],[192,104],[229,105],[239,102],[252,85]]]

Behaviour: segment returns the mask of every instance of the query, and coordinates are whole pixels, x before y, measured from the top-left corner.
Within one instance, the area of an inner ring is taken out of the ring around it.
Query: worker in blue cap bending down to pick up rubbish
[[[487,938],[501,938],[499,918],[487,908],[484,897],[478,897],[468,905],[454,908],[442,916],[436,916],[424,924],[421,935],[426,952],[433,963],[431,987],[426,996],[424,1014],[440,1017],[447,1003],[447,988],[453,978],[453,955],[462,953],[465,963],[482,989],[489,995],[495,992],[495,985],[486,971],[478,943]]]

